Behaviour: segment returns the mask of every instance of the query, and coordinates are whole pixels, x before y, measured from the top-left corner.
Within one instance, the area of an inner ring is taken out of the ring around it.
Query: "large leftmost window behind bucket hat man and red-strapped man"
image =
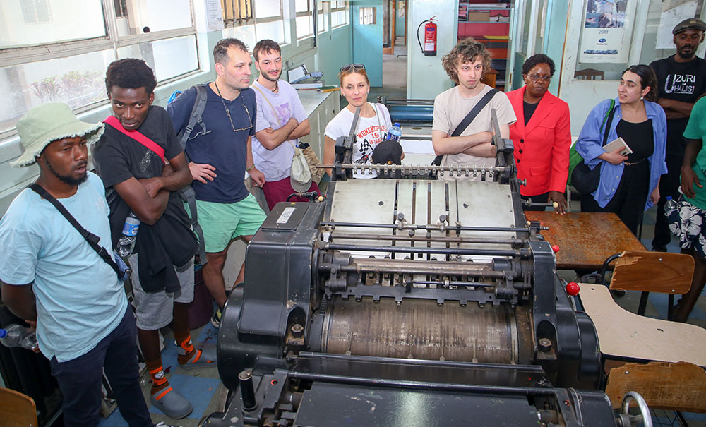
[[[159,82],[199,69],[190,0],[22,0],[2,7],[0,136],[44,102],[75,110],[105,102],[105,70],[116,59],[144,59]]]

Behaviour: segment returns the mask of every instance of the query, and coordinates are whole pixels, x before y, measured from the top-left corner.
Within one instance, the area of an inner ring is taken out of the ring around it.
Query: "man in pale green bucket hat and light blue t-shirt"
[[[88,145],[103,124],[76,119],[68,105],[30,109],[17,124],[24,152],[13,167],[37,163],[40,196],[25,188],[0,220],[2,297],[10,310],[37,322],[40,351],[64,395],[66,426],[97,425],[105,371],[130,426],[152,426],[140,390],[136,326],[123,284],[59,210],[56,198],[98,245],[112,253],[102,181],[87,172]]]

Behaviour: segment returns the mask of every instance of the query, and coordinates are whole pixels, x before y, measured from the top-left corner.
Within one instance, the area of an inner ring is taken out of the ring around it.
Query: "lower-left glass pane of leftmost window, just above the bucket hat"
[[[105,70],[113,50],[0,68],[0,132],[15,127],[28,109],[61,101],[77,109],[106,100]]]

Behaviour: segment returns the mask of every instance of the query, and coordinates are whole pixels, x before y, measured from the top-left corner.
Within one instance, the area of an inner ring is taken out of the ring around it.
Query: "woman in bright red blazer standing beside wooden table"
[[[536,54],[522,64],[525,86],[507,93],[517,116],[510,126],[510,139],[515,144],[517,178],[527,180],[527,185],[520,186],[522,198],[556,202],[556,212],[563,214],[571,125],[568,104],[547,91],[551,76],[554,61],[549,56]]]

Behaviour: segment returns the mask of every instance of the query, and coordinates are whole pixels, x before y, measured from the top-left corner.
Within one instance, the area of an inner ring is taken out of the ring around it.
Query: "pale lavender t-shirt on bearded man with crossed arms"
[[[279,87],[277,93],[265,88],[257,81],[252,85],[258,102],[256,132],[266,128],[273,128],[273,131],[276,131],[285,126],[292,117],[299,123],[307,119],[297,90],[285,80],[279,80],[277,85]],[[255,166],[258,170],[265,174],[265,181],[280,181],[280,179],[289,176],[292,157],[294,157],[294,145],[297,143],[299,143],[299,139],[294,138],[289,142],[281,143],[274,150],[268,150],[260,143],[257,136],[253,136],[253,160],[255,160]]]

